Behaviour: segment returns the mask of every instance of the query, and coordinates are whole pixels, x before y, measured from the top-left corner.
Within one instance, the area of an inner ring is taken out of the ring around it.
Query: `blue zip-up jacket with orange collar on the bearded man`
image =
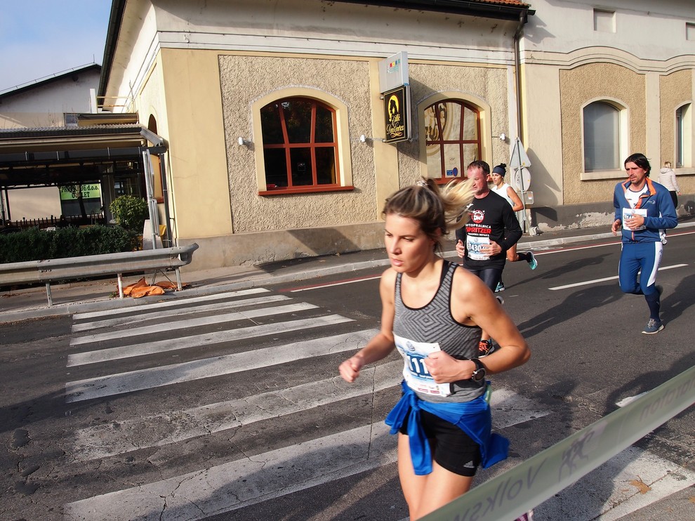
[[[613,193],[613,206],[616,209],[615,218],[623,220],[623,209],[629,209],[630,203],[625,197],[625,192],[630,187],[630,181],[623,181],[616,185]],[[661,242],[663,230],[675,228],[678,218],[673,206],[673,199],[666,187],[654,183],[647,178],[647,193],[640,196],[640,201],[635,209],[646,209],[647,217],[644,218],[644,230],[623,230],[623,242]]]

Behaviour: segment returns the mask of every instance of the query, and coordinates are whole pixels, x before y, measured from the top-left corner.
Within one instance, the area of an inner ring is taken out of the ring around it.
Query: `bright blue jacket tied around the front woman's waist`
[[[420,423],[421,410],[453,423],[470,436],[480,447],[483,468],[491,467],[507,458],[509,440],[492,433],[492,416],[484,396],[470,402],[432,403],[421,400],[405,382],[401,383],[401,388],[403,396],[386,416],[386,424],[391,427],[391,434],[396,434],[407,416],[410,457],[416,475],[422,476],[432,472],[432,453]]]

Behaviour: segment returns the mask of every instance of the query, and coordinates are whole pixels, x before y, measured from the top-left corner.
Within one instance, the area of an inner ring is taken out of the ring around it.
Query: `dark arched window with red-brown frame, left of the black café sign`
[[[313,98],[282,98],[260,109],[268,191],[340,185],[336,111]]]

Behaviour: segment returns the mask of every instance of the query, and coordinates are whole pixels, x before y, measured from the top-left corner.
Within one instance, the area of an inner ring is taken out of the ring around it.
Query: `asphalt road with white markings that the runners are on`
[[[508,264],[505,310],[533,356],[492,378],[511,451],[477,484],[694,365],[692,237],[666,245],[653,336],[644,298],[618,289],[615,241]],[[399,359],[361,387],[336,378],[378,327],[380,271],[4,324],[0,519],[403,520],[383,427]],[[690,407],[536,521],[695,518],[693,433]]]

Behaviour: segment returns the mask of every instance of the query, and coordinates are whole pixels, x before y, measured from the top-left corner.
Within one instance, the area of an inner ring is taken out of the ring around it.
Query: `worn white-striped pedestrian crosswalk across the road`
[[[394,356],[366,367],[352,384],[337,375],[339,361],[376,333],[373,325],[261,288],[82,313],[73,320],[66,367],[79,378],[65,383],[65,400],[75,406],[90,400],[106,400],[108,408],[112,400],[121,404],[114,420],[69,433],[77,462],[128,461],[129,454],[143,451],[153,465],[175,459],[171,454],[186,460],[197,440],[223,435],[234,444],[240,429],[255,426],[259,433],[267,428],[298,435],[259,436],[257,445],[246,437],[239,440],[244,449],[222,461],[161,463],[157,478],[132,475],[131,484],[114,482],[102,494],[67,503],[67,520],[204,519],[396,461],[395,437],[376,409],[397,400],[402,362]],[[179,356],[183,361],[172,363]],[[218,395],[199,391],[211,381],[228,388],[228,396],[214,400]],[[131,396],[142,400],[142,393],[161,390],[178,400],[127,407]],[[492,406],[497,430],[551,414],[505,388],[495,390]],[[165,448],[167,456],[156,455]]]

